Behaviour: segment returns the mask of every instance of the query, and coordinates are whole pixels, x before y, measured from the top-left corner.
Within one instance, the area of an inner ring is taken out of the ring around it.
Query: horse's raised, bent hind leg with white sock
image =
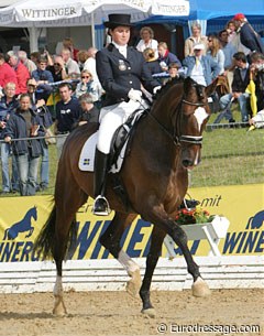
[[[121,249],[120,240],[125,228],[135,217],[135,214],[116,213],[106,232],[100,238],[101,245],[107,248],[116,259],[118,259],[131,278],[127,283],[127,291],[133,296],[139,294],[141,286],[140,267]]]

